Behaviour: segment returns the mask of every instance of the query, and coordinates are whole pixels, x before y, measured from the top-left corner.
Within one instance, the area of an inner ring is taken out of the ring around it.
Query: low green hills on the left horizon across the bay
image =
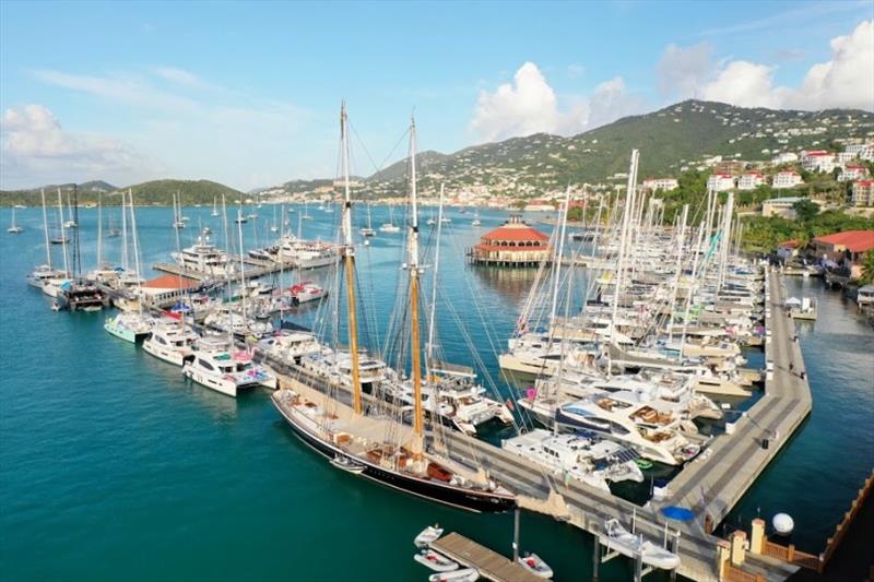
[[[40,203],[39,191],[46,190],[46,194],[54,193],[58,188],[64,191],[72,190],[73,185],[51,185],[43,188],[29,190],[7,190],[0,191],[0,206],[12,204],[24,204],[35,206]],[[123,188],[115,187],[103,180],[95,180],[76,185],[79,203],[94,204],[97,202],[98,194],[103,194],[105,205],[118,205],[121,203],[120,192],[133,191],[133,199],[138,205],[145,204],[172,204],[173,195],[178,193],[182,204],[212,204],[213,199],[221,202],[224,194],[228,203],[244,199],[245,194],[228,186],[210,180],[153,180]],[[52,200],[49,198],[49,201]]]

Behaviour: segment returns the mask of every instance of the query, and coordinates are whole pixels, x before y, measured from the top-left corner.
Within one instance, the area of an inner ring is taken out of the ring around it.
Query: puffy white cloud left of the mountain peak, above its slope
[[[480,92],[470,127],[482,141],[539,132],[570,135],[643,108],[643,100],[629,94],[618,76],[598,85],[591,95],[559,98],[538,66],[525,62],[512,83]]]

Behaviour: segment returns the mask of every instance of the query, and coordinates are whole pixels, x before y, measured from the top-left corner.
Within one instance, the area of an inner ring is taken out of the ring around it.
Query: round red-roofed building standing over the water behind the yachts
[[[550,237],[513,214],[503,226],[480,238],[468,256],[475,264],[535,266],[552,256]]]

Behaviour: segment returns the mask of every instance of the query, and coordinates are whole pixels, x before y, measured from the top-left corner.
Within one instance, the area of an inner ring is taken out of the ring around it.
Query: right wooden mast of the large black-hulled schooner
[[[408,241],[408,268],[410,271],[410,355],[413,368],[413,429],[416,440],[414,454],[422,454],[425,423],[422,412],[422,370],[418,346],[418,201],[416,200],[416,121],[410,120],[410,236]]]

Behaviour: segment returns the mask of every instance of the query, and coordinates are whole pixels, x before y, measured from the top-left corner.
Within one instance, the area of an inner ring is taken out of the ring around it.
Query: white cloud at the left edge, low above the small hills
[[[129,183],[161,169],[119,141],[64,131],[43,105],[7,109],[0,144],[3,189],[90,179]]]

